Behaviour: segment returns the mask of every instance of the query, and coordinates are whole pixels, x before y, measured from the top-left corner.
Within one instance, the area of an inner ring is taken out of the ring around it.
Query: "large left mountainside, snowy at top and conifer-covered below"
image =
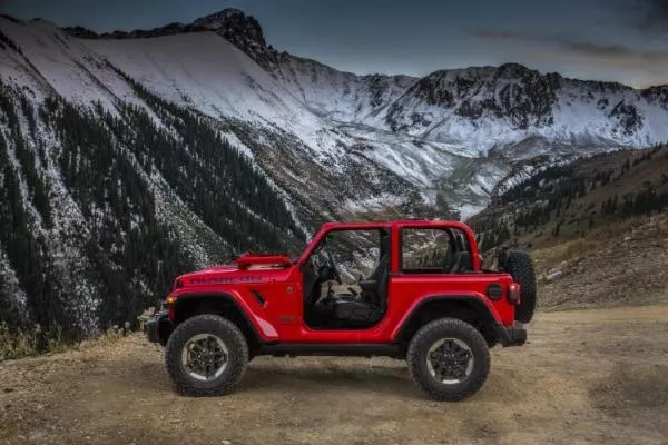
[[[12,326],[76,336],[131,320],[178,273],[296,253],[344,202],[418,192],[363,156],[314,159],[303,139],[323,138],[317,116],[263,96],[276,81],[217,34],[163,38],[186,62],[191,44],[215,47],[189,72],[150,40],[115,52],[41,21],[0,27],[0,320]]]

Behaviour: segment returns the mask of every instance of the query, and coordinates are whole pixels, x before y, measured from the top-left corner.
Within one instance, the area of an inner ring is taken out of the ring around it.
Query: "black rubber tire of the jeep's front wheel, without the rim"
[[[212,380],[191,377],[183,364],[183,348],[198,334],[219,337],[228,349],[226,368]],[[165,349],[165,364],[179,394],[194,397],[219,396],[232,392],[244,377],[248,364],[248,344],[240,329],[230,320],[217,315],[198,315],[188,318],[171,333]]]

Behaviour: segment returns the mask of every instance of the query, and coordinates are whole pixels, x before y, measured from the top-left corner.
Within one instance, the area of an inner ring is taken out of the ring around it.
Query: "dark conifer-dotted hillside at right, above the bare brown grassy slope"
[[[470,219],[483,250],[542,248],[668,210],[668,146],[619,150],[536,171]]]

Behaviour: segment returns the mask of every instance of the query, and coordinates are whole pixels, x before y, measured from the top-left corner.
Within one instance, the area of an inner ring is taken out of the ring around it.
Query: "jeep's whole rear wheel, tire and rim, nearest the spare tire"
[[[490,373],[490,350],[484,337],[455,318],[423,326],[411,339],[406,362],[413,382],[436,400],[470,397]]]

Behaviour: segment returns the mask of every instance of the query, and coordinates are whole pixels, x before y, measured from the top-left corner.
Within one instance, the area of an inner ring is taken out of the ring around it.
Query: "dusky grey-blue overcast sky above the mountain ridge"
[[[668,0],[0,0],[21,19],[96,31],[189,22],[226,7],[256,17],[275,48],[358,73],[515,61],[635,87],[668,83]]]

